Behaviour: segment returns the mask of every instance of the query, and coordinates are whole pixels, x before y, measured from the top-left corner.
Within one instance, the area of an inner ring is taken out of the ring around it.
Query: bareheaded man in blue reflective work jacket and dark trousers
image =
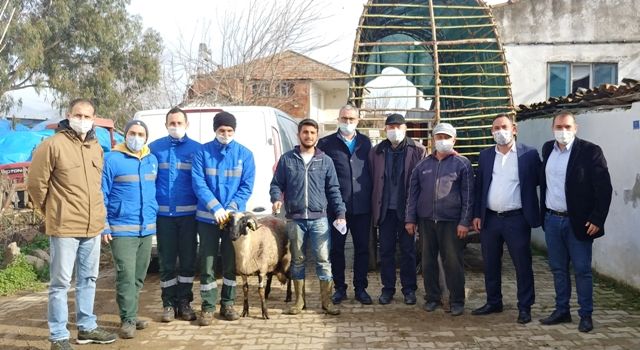
[[[161,320],[171,322],[177,316],[193,321],[196,314],[190,303],[193,301],[198,247],[195,215],[198,199],[191,186],[191,162],[201,145],[187,136],[189,121],[182,109],[170,109],[165,126],[169,135],[149,145],[158,158],[156,199]]]

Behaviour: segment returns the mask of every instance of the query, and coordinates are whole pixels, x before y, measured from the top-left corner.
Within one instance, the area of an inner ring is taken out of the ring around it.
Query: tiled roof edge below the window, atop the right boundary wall
[[[547,101],[520,105],[517,119],[533,119],[553,115],[564,110],[614,108],[640,101],[640,82],[622,79],[621,85],[603,84],[593,89],[579,89],[564,97],[551,97]]]

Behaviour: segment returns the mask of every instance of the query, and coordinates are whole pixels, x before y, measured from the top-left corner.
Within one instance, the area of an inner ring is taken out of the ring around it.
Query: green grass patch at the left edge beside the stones
[[[48,275],[48,268],[47,275]],[[22,290],[41,290],[44,284],[40,282],[38,273],[20,255],[7,266],[0,270],[0,295],[11,295]]]

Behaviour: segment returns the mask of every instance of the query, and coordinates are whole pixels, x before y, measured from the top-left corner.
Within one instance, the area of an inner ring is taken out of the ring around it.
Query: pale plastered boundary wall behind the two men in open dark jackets
[[[593,267],[600,273],[640,288],[640,102],[631,109],[589,111],[576,116],[578,137],[602,147],[607,159],[613,199],[606,234],[593,245]],[[518,123],[518,141],[538,148],[553,138],[551,117]],[[634,192],[635,188],[635,192]],[[534,231],[544,246],[544,233]]]

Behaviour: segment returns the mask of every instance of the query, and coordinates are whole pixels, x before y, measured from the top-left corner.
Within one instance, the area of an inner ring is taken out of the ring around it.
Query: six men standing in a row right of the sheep
[[[497,115],[491,124],[495,146],[480,152],[475,171],[470,161],[455,151],[457,132],[451,124],[435,125],[434,151],[425,154],[425,147],[406,137],[402,115],[386,118],[386,139],[375,146],[357,130],[358,117],[356,108],[342,107],[339,130],[317,144],[317,124],[302,121],[300,146],[285,154],[278,164],[271,199],[274,210],[284,199],[293,225],[290,238],[295,242],[292,276],[296,303],[290,313],[299,313],[304,305],[305,237],[316,254],[321,287],[322,281],[334,282],[331,301],[335,305],[348,298],[344,254],[347,231],[354,246],[354,299],[365,305],[373,303],[366,290],[372,224],[378,230],[380,304],[389,304],[396,292],[397,246],[404,303],[416,304],[419,241],[426,292],[424,310],[432,312],[442,306],[444,282],[450,304],[445,309],[452,316],[462,315],[463,251],[472,229],[480,235],[486,303],[471,314],[503,311],[502,256],[506,243],[516,270],[517,322],[529,323],[535,302],[531,230],[542,226],[556,303],[551,315],[540,323],[571,322],[569,267],[573,266],[580,305],[578,330],[593,329],[592,245],[594,239],[604,235],[612,186],[602,149],[576,137],[578,125],[573,114],[561,112],[553,118],[554,139],[543,145],[542,159],[535,148],[516,142],[518,128],[512,117]],[[338,191],[342,201],[336,199]],[[440,281],[439,264],[444,281]],[[328,303],[326,288],[321,289],[323,308],[329,314],[338,314],[339,310]]]

